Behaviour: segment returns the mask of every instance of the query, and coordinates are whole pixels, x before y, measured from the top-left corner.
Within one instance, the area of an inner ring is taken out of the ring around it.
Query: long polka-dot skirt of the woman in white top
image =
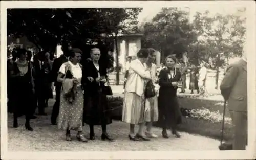
[[[83,93],[81,87],[77,89],[75,101],[72,104],[64,98],[62,93],[60,94],[58,129],[82,131]]]

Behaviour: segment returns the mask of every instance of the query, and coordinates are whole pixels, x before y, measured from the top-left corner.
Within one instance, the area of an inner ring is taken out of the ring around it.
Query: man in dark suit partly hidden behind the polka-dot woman
[[[60,89],[62,86],[61,82],[57,82],[57,76],[59,72],[60,66],[68,61],[69,52],[71,51],[71,43],[63,44],[61,47],[61,50],[63,51],[63,55],[61,55],[59,58],[54,59],[52,64],[52,70],[51,70],[51,81],[54,82],[55,85],[55,103],[53,105],[52,109],[52,115],[51,115],[51,123],[53,125],[57,125],[57,117],[59,115],[59,105],[60,105]]]

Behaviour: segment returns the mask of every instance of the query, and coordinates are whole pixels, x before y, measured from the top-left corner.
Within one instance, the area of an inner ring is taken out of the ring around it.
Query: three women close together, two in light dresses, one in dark
[[[181,112],[177,101],[177,88],[181,79],[180,71],[175,67],[177,59],[166,57],[166,68],[156,76],[156,52],[152,49],[141,49],[137,59],[130,63],[129,75],[124,89],[122,121],[130,123],[129,139],[132,141],[150,141],[157,138],[152,132],[152,123],[160,121],[162,136],[168,138],[167,129],[180,138],[177,125],[181,123]],[[158,83],[159,96],[145,94],[148,83]],[[135,134],[135,125],[139,130]],[[146,124],[146,130],[144,126]]]

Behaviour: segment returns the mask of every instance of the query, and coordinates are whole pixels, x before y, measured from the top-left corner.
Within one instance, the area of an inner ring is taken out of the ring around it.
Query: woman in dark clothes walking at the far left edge
[[[19,49],[17,52],[18,60],[13,63],[13,69],[11,71],[11,77],[13,79],[13,88],[15,88],[15,94],[13,95],[13,127],[18,127],[18,116],[26,115],[25,128],[32,131],[30,126],[30,118],[33,114],[33,102],[34,98],[34,83],[32,77],[32,66],[27,61],[27,51],[25,49]]]

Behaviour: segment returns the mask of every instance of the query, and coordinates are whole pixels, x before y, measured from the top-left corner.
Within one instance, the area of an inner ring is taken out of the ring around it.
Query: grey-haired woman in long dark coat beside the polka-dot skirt
[[[92,61],[83,66],[82,84],[84,88],[84,122],[90,125],[90,140],[95,140],[94,126],[101,125],[101,140],[113,141],[106,132],[106,125],[112,123],[111,108],[102,93],[106,83],[106,66],[99,64],[100,50],[91,49]]]

